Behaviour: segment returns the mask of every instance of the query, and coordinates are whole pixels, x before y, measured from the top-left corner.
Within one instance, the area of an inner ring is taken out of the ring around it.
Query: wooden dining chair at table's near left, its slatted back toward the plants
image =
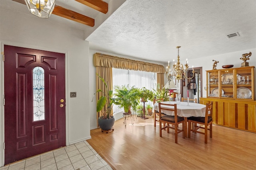
[[[167,133],[169,129],[174,129],[175,143],[178,143],[178,133],[182,132],[182,137],[185,138],[185,119],[177,115],[177,104],[163,104],[158,103],[159,112],[161,111],[173,111],[174,115],[163,115],[159,114],[159,134],[162,137],[162,130],[167,128]],[[162,127],[162,123],[165,123]],[[180,129],[179,124],[182,123],[182,129]],[[172,125],[172,126],[170,126]]]

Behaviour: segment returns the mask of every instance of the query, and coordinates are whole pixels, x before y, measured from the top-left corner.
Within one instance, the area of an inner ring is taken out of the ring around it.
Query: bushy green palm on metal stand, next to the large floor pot
[[[138,105],[138,89],[129,85],[114,86],[116,105],[119,108],[124,108],[125,113],[129,113],[130,109],[136,110]]]

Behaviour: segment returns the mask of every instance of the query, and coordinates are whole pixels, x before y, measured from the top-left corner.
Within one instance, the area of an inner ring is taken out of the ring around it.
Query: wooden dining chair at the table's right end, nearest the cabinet
[[[207,143],[208,140],[208,130],[210,131],[210,138],[212,138],[212,102],[206,104],[205,117],[188,117],[188,138],[190,138],[190,131],[201,133],[204,135],[204,143]],[[191,129],[192,125],[199,124],[198,126],[194,126]],[[204,125],[204,126],[202,126]],[[210,126],[208,128],[208,126]],[[204,129],[204,131],[199,131],[199,129]]]

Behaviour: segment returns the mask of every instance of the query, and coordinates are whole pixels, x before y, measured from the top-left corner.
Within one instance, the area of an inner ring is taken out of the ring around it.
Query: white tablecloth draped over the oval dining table
[[[162,102],[166,104],[176,104],[176,102]],[[168,107],[168,106],[162,106],[162,107]],[[154,104],[154,109],[158,111],[158,103]],[[205,109],[206,105],[204,104],[198,104],[198,103],[189,103],[188,102],[180,102],[180,104],[177,104],[177,114],[180,117],[204,117],[205,116]],[[161,110],[162,113],[165,113],[166,115],[174,115],[174,111],[168,111],[168,110]]]

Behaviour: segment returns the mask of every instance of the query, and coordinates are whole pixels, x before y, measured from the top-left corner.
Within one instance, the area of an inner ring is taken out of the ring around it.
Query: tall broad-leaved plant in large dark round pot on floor
[[[97,101],[96,111],[101,113],[101,116],[98,118],[98,124],[103,131],[109,131],[112,129],[115,118],[112,113],[113,104],[118,104],[115,102],[115,98],[112,97],[113,90],[110,90],[108,84],[105,80],[97,74],[100,80],[104,83],[105,91],[98,89],[95,93],[100,92],[102,96],[100,96],[99,100]],[[94,98],[94,97],[93,97]],[[93,101],[92,98],[92,101]]]

